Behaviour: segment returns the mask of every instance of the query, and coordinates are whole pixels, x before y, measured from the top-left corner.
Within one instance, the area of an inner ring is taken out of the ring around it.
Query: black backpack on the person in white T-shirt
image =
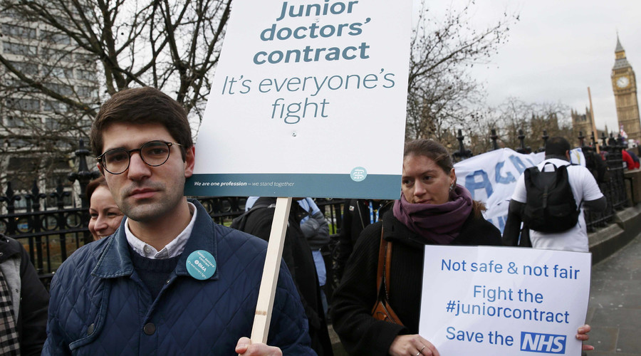
[[[527,202],[521,213],[529,229],[545,233],[563,232],[576,225],[580,214],[568,181],[565,165],[554,167],[553,172],[530,167],[524,172]]]

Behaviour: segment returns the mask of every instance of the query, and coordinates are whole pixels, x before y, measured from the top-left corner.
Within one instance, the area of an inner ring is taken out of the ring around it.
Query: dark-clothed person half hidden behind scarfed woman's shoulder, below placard
[[[345,263],[350,257],[360,232],[374,224],[391,208],[388,200],[350,199],[343,205],[343,221],[338,234],[338,243],[332,252],[334,280],[338,286],[343,278]]]

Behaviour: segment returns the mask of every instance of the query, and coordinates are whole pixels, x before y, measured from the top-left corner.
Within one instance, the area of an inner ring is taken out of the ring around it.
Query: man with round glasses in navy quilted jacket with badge
[[[284,263],[271,346],[244,337],[266,244],[183,196],[195,151],[182,106],[153,88],[123,90],[100,108],[90,139],[125,219],[56,271],[43,355],[315,355]]]

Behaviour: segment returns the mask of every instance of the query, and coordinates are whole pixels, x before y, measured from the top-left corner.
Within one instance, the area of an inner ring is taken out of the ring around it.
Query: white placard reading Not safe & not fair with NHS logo
[[[442,356],[580,355],[591,256],[425,246],[419,334]]]

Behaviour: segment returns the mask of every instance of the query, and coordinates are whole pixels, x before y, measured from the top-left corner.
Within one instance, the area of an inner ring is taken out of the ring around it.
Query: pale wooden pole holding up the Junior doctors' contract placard
[[[273,213],[263,278],[261,279],[258,303],[256,303],[256,315],[254,315],[254,325],[251,328],[251,342],[267,342],[271,309],[273,308],[273,298],[276,294],[276,283],[278,282],[278,271],[280,271],[281,267],[281,256],[283,256],[283,244],[285,242],[290,208],[291,198],[276,199],[276,211]]]

